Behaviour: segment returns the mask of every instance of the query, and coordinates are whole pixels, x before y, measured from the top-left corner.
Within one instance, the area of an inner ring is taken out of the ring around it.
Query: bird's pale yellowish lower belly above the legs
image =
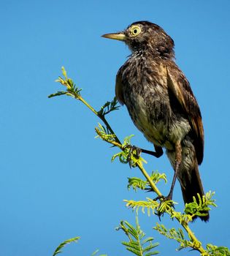
[[[134,101],[126,103],[132,121],[145,138],[157,146],[172,150],[175,148],[175,143],[183,140],[191,129],[185,118],[172,118],[170,108],[153,110],[140,95],[137,95]]]

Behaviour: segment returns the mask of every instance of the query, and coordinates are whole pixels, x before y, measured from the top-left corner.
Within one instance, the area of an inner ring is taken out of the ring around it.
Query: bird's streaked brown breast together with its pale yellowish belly
[[[172,108],[161,67],[154,70],[140,73],[137,65],[123,69],[123,96],[132,121],[145,138],[172,150],[191,127],[179,110]],[[135,74],[139,80],[134,79]]]

